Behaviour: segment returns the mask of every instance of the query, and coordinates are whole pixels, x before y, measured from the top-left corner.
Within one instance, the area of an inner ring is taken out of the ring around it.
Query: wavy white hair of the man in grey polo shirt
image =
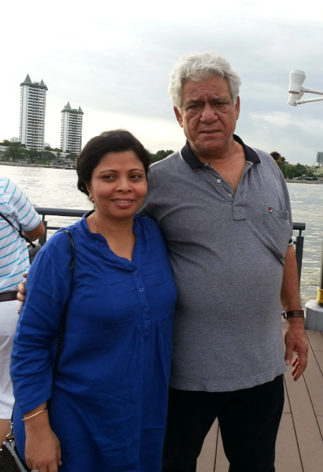
[[[195,52],[182,56],[171,71],[168,91],[174,106],[182,106],[182,87],[185,82],[200,82],[214,75],[228,80],[230,95],[236,104],[241,80],[232,71],[226,58],[215,52]]]

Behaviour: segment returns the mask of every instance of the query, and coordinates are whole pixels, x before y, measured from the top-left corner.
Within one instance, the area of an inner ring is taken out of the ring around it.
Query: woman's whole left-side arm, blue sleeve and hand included
[[[53,340],[70,296],[70,261],[65,233],[54,235],[40,251],[28,274],[27,297],[12,349],[14,395],[25,419],[26,462],[31,469],[47,472],[57,472],[60,465],[60,443],[45,408],[53,383]]]

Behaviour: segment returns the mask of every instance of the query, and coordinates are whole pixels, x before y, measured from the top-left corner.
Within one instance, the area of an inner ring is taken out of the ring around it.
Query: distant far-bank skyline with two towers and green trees
[[[60,148],[51,148],[45,143],[45,115],[47,85],[43,80],[32,82],[29,74],[21,82],[21,106],[19,137],[12,137],[0,143],[0,161],[11,161],[25,164],[58,165],[59,167],[75,168],[75,159],[82,150],[83,111],[71,108],[69,102],[61,110]],[[171,154],[172,150],[160,150],[151,154],[152,161],[159,161]],[[278,163],[285,178],[323,179],[323,172],[318,167],[323,166],[323,151],[316,155],[312,166],[289,164],[285,158]]]

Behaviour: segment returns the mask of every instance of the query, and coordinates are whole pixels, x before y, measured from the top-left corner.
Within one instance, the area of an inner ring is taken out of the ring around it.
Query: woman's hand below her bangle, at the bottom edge
[[[38,432],[27,432],[26,428],[25,459],[31,470],[58,472],[62,465],[60,441],[50,426]]]

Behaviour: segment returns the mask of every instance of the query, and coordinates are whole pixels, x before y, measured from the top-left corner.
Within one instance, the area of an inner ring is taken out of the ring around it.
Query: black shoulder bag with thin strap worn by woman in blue
[[[74,271],[74,260],[75,260],[74,240],[73,240],[73,236],[71,235],[71,233],[69,233],[69,231],[62,230],[60,231],[60,233],[67,233],[69,237],[69,244],[71,245],[72,255],[71,255],[71,260],[69,262],[69,266],[71,268],[71,283],[72,283],[73,271]],[[58,368],[58,361],[60,359],[60,353],[62,352],[62,342],[63,342],[65,325],[66,325],[66,320],[67,320],[68,305],[69,305],[69,300],[67,300],[67,303],[64,307],[64,313],[63,313],[62,322],[60,325],[60,335],[58,336],[58,345],[57,345],[57,350],[56,350],[55,364],[53,368],[53,379]],[[48,404],[48,409],[49,408],[50,408],[50,400]],[[13,414],[14,413],[12,412],[12,417],[13,417]],[[12,426],[12,417],[10,421],[11,431],[8,434],[5,442],[1,445],[1,449],[0,449],[0,472],[9,472],[9,471],[10,472],[30,472],[29,469],[27,469],[27,466],[23,464],[23,461],[19,457],[19,454],[16,448],[16,442],[14,440],[14,430]]]

